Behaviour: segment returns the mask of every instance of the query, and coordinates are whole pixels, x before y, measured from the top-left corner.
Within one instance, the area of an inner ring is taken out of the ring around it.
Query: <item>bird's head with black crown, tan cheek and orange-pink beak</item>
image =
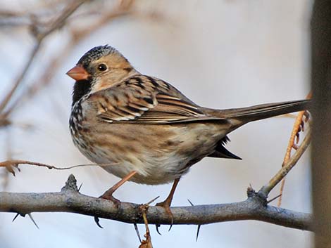
[[[106,89],[137,73],[129,61],[111,46],[96,46],[67,72],[75,79],[73,104],[87,93]]]

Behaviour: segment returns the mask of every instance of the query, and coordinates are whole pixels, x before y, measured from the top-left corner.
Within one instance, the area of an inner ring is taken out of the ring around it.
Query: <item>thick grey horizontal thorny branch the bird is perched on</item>
[[[203,225],[256,220],[289,228],[311,230],[311,214],[268,206],[266,198],[261,197],[261,194],[251,188],[247,190],[247,195],[247,200],[243,202],[172,207],[173,224]],[[31,212],[70,212],[125,223],[144,223],[139,204],[122,202],[117,209],[111,201],[82,195],[77,190],[73,175],[69,176],[61,192],[0,192],[0,211],[19,213],[23,216]],[[146,214],[150,224],[170,224],[170,218],[162,207],[149,207]]]

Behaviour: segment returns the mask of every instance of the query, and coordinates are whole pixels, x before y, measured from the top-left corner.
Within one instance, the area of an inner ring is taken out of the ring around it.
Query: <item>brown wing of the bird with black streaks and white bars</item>
[[[164,87],[160,87],[161,91],[157,84],[158,81],[151,77],[132,77],[92,94],[88,101],[96,107],[97,115],[104,122],[166,124],[221,119],[206,115],[199,106],[184,100],[185,97],[180,98],[181,93],[173,87],[164,92]],[[175,91],[175,96],[171,91]]]

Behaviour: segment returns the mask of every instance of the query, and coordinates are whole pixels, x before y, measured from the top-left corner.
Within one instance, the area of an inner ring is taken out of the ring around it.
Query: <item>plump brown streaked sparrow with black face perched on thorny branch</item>
[[[241,159],[225,148],[227,134],[240,126],[307,110],[309,100],[218,110],[201,107],[162,79],[138,72],[117,49],[96,46],[67,72],[75,79],[69,120],[73,143],[87,159],[121,180],[173,183],[158,204],[170,204],[181,176],[204,157]]]

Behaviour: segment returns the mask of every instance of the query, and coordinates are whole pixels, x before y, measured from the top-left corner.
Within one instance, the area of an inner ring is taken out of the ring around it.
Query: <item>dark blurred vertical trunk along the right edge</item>
[[[315,247],[331,247],[331,1],[316,0],[311,20],[313,214]]]

